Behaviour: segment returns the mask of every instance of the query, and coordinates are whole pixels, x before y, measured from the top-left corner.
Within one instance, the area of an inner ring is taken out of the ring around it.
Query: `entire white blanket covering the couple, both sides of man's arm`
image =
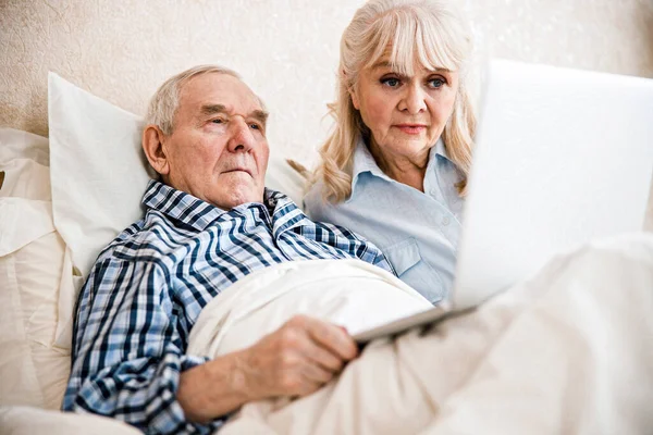
[[[295,313],[355,333],[428,308],[360,262],[252,275],[202,311],[189,353],[249,346]],[[377,341],[316,394],[244,406],[220,434],[643,434],[653,428],[653,236],[551,261],[477,312]]]

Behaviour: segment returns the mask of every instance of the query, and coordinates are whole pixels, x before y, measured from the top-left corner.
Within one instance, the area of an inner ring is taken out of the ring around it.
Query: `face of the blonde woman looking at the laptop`
[[[371,130],[373,149],[385,159],[424,163],[452,114],[457,90],[457,72],[419,66],[414,76],[402,76],[381,59],[360,72],[350,94]]]

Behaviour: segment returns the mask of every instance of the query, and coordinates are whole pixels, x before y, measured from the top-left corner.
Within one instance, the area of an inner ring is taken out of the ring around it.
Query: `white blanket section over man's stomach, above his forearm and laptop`
[[[433,306],[392,274],[360,260],[293,261],[229,287],[201,312],[187,353],[217,357],[254,345],[294,314],[356,334]]]

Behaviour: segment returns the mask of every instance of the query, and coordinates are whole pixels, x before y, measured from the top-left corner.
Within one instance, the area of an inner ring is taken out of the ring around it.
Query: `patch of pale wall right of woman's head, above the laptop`
[[[653,0],[467,0],[496,55],[653,77]]]

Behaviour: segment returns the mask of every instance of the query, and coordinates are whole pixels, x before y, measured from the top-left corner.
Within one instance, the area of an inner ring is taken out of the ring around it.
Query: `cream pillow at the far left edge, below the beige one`
[[[51,203],[0,198],[0,234],[10,233],[0,251],[0,406],[59,409],[71,357],[53,346],[58,289],[71,270]]]

